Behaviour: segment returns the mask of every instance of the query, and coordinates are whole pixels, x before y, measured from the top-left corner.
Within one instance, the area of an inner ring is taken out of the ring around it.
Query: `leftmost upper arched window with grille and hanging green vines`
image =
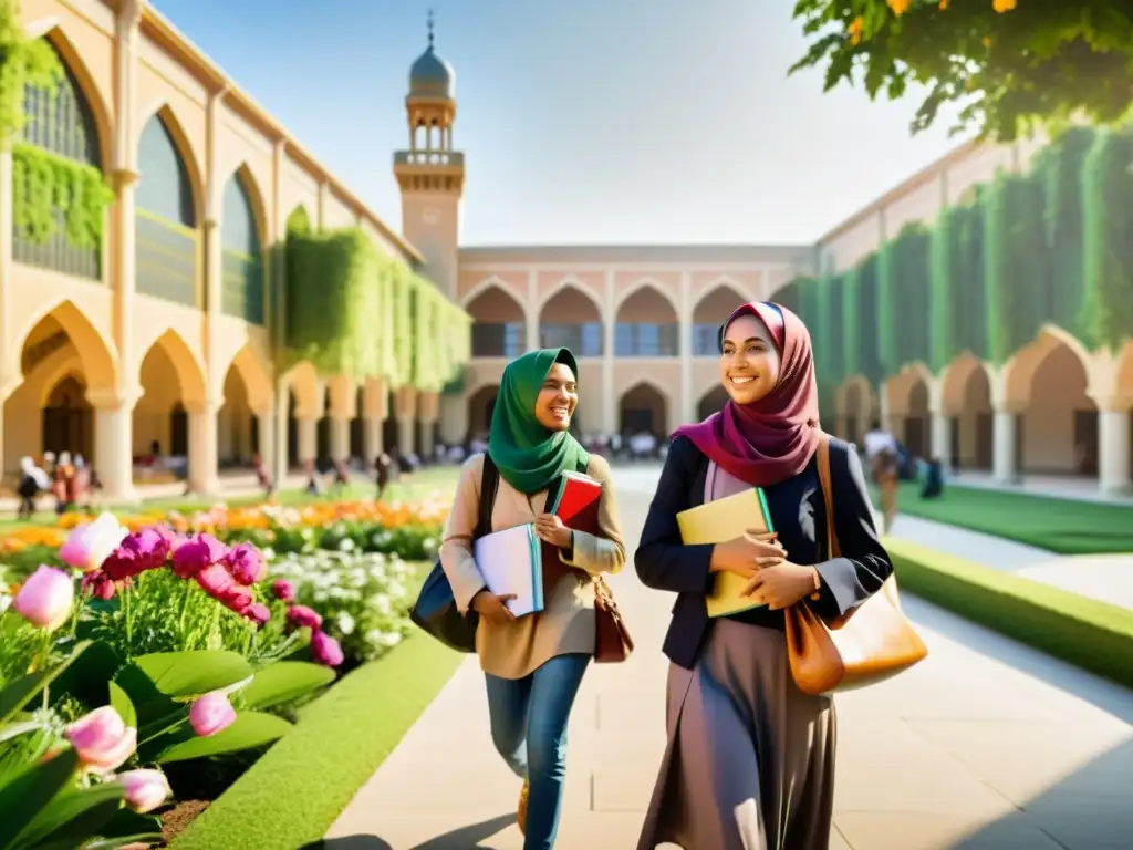
[[[54,50],[54,45],[51,46]],[[69,163],[86,165],[101,176],[102,151],[99,147],[94,112],[74,71],[59,52],[54,52],[62,67],[62,76],[54,91],[32,85],[24,87],[25,124],[20,141],[31,148],[40,148],[62,160],[63,168]],[[69,236],[67,211],[74,201],[70,194],[59,192],[50,199],[50,235],[37,238],[31,235],[28,215],[34,215],[34,209],[44,203],[44,192],[62,188],[58,185],[61,179],[83,185],[61,177],[60,168],[52,167],[50,160],[33,160],[20,155],[18,151],[14,155],[12,258],[18,263],[78,278],[101,280],[102,245],[78,245]],[[60,203],[65,194],[66,204]]]

